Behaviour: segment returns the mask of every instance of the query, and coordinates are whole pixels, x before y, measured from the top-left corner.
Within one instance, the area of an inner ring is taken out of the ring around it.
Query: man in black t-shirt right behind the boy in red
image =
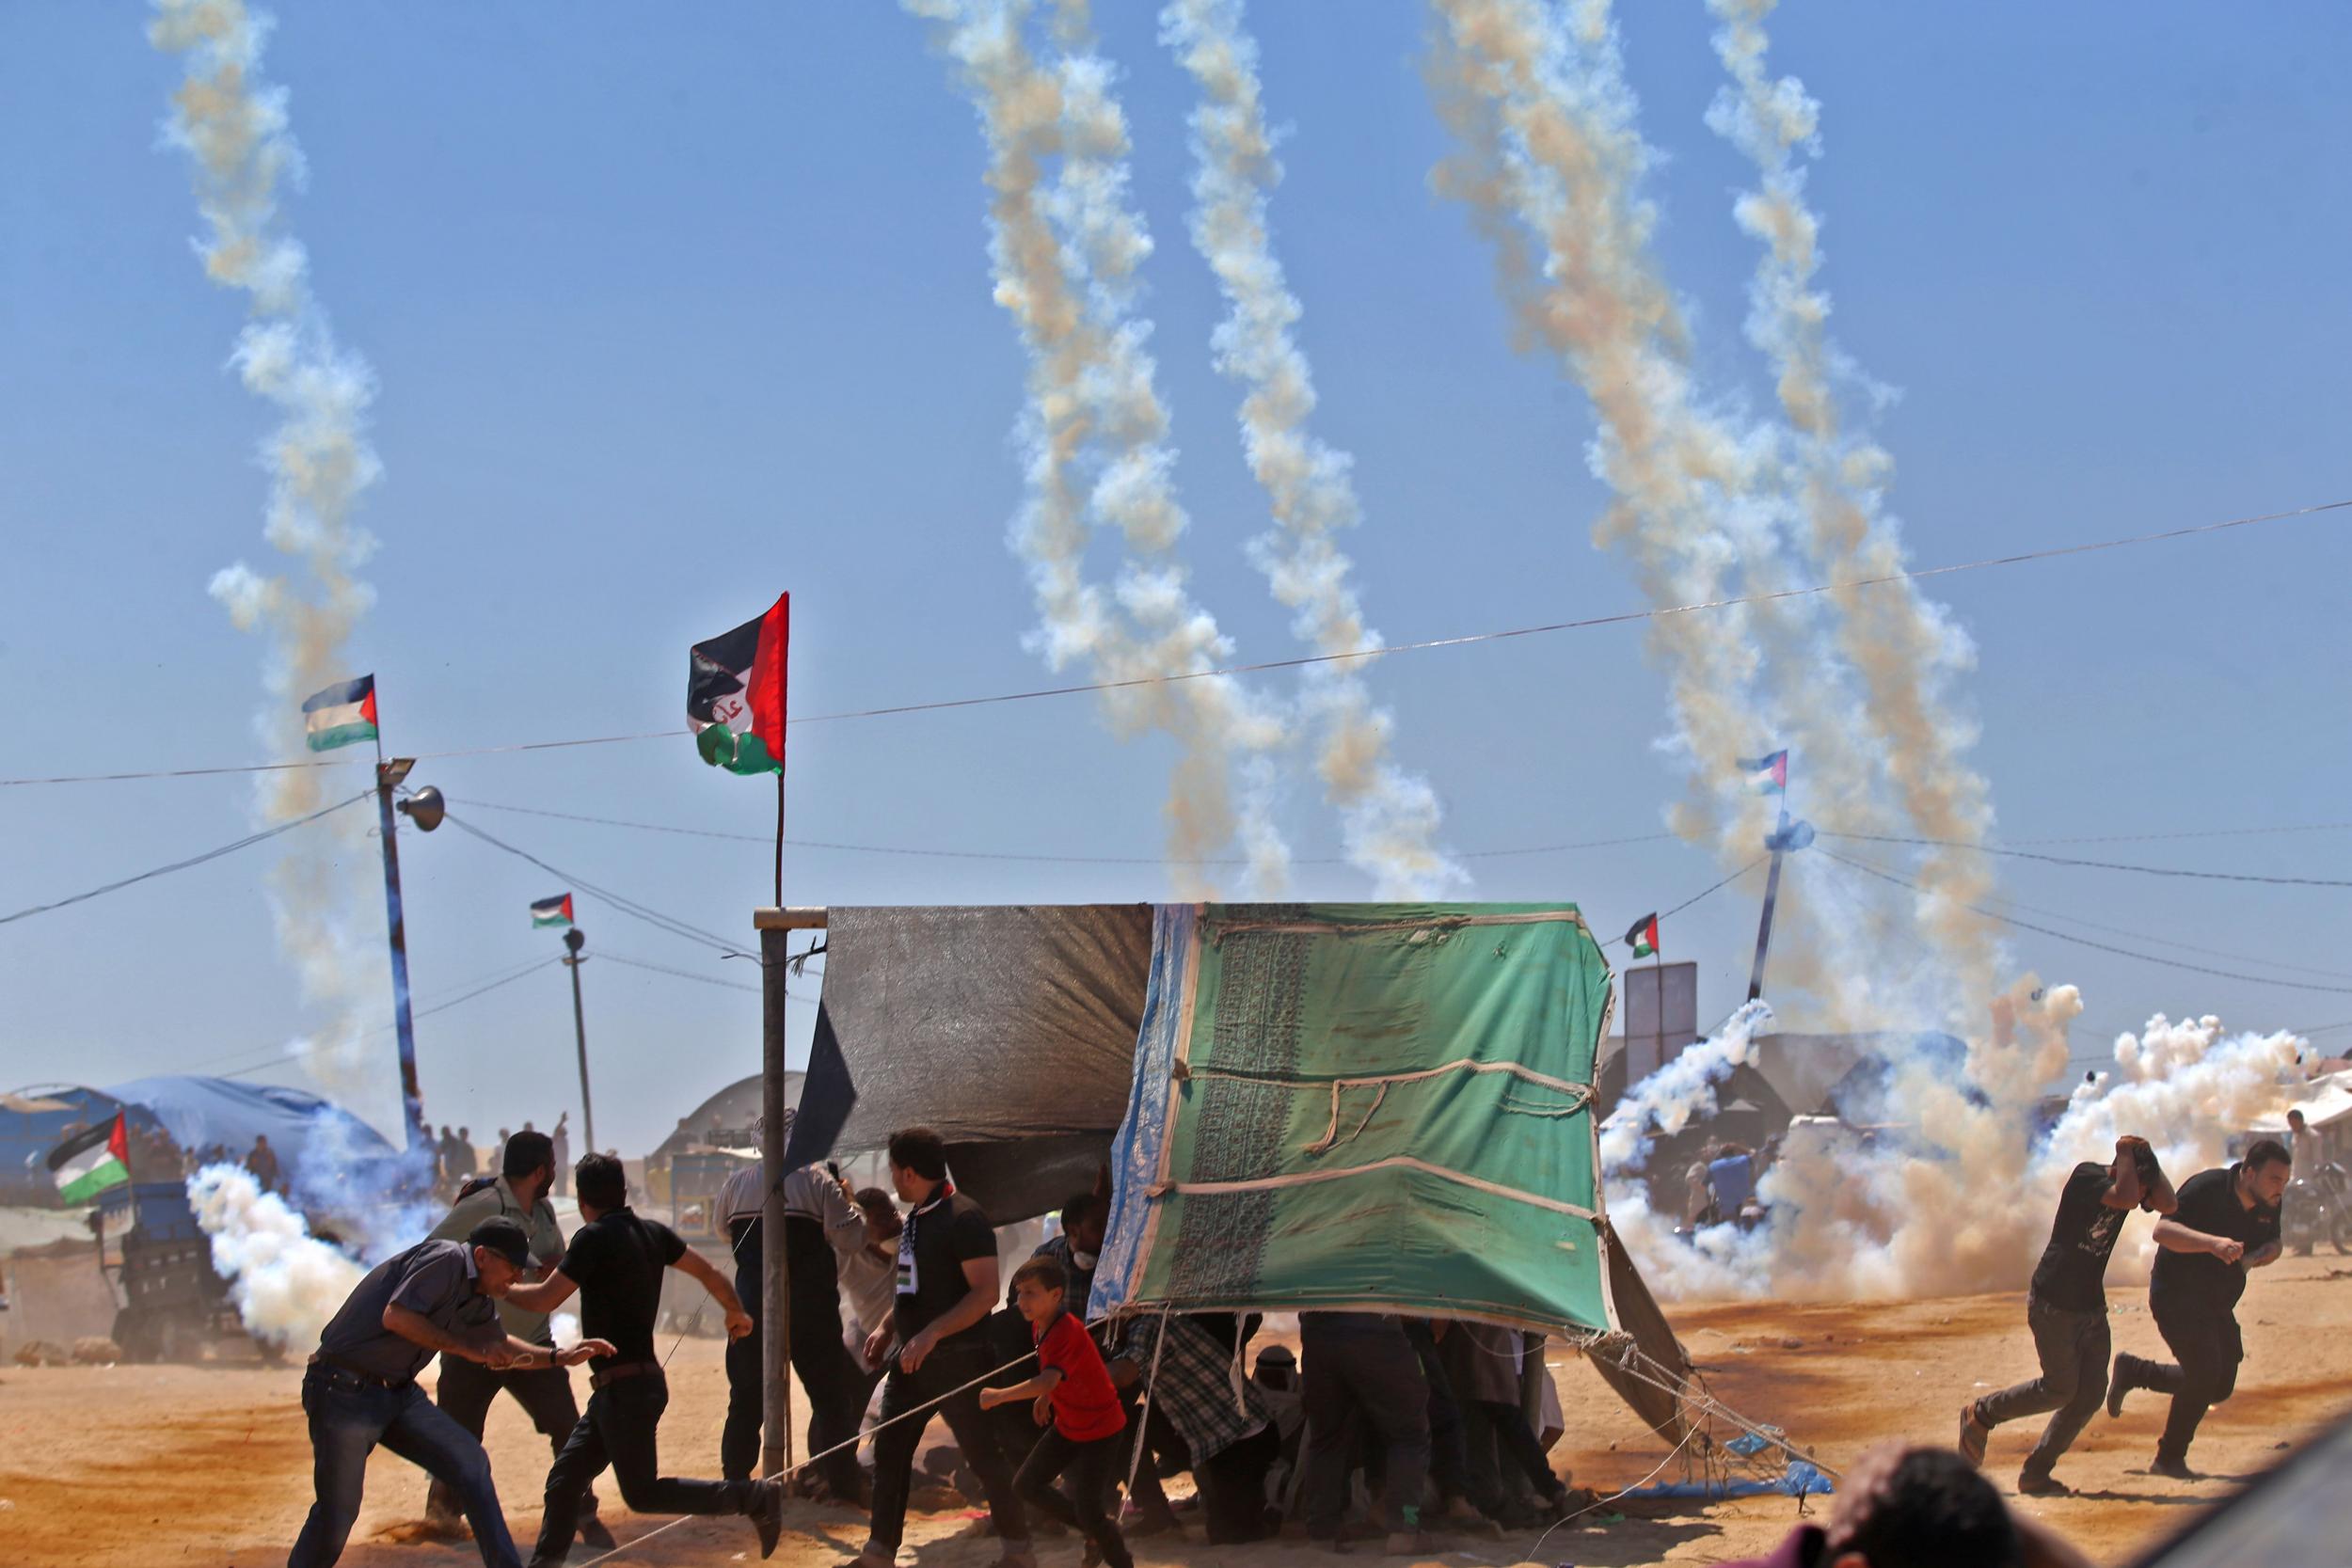
[[[866,1338],[866,1366],[889,1361],[894,1342],[898,1349],[875,1429],[873,1523],[854,1568],[891,1568],[898,1554],[915,1448],[931,1425],[922,1410],[934,1401],[988,1493],[988,1516],[1004,1540],[1000,1568],[1035,1568],[1021,1497],[981,1415],[978,1382],[997,1366],[985,1328],[997,1305],[997,1234],[981,1206],[948,1182],[948,1145],[931,1128],[891,1133],[889,1178],[908,1204],[898,1300],[891,1321]]]

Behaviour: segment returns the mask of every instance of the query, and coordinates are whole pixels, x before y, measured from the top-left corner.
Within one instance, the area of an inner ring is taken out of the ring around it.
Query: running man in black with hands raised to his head
[[[2107,1333],[2107,1258],[2133,1208],[2169,1215],[2176,1204],[2145,1138],[2117,1138],[2114,1164],[2086,1159],[2074,1166],[2025,1291],[2025,1326],[2034,1335],[2042,1375],[1973,1399],[1959,1413],[1959,1450],[1971,1465],[1983,1465],[1994,1427],[2051,1410],[2042,1441],[2018,1472],[2018,1490],[2034,1497],[2067,1490],[2051,1469],[2107,1392],[2107,1352],[2114,1347]]]

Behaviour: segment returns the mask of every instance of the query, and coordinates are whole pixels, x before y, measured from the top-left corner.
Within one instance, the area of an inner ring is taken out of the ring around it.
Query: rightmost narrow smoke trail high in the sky
[[[1715,52],[1731,73],[1708,125],[1740,148],[1759,183],[1738,197],[1738,226],[1764,244],[1750,284],[1748,336],[1776,374],[1780,409],[1797,442],[1795,489],[1806,545],[1823,581],[1893,578],[1907,564],[1886,491],[1893,458],[1842,428],[1839,381],[1856,374],[1830,343],[1830,299],[1818,287],[1820,219],[1804,200],[1799,148],[1818,153],[1820,103],[1797,78],[1764,68],[1764,19],[1778,0],[1708,0],[1722,21]],[[1884,773],[1919,837],[1978,844],[1992,835],[1992,795],[1966,766],[1976,724],[1952,698],[1952,679],[1976,649],[1917,583],[1891,581],[1832,599],[1842,661],[1860,675],[1863,719],[1884,745]],[[1964,997],[1990,994],[1997,945],[1992,924],[1971,910],[1992,891],[1983,856],[1931,849],[1917,872],[1919,924],[1959,969]]]

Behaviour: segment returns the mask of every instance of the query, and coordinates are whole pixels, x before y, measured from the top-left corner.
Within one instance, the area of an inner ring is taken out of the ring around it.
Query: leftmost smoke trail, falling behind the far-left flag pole
[[[252,303],[230,367],[247,390],[282,414],[261,444],[270,475],[263,538],[294,557],[294,569],[266,576],[238,562],[212,578],[212,597],[230,618],[270,639],[263,682],[270,701],[256,722],[263,745],[282,757],[301,750],[301,698],[353,675],[343,644],[374,599],[358,578],[374,541],[353,524],[350,510],[381,465],[367,444],[374,374],[336,346],[310,294],[308,256],[278,209],[280,190],[301,181],[303,162],[287,132],[287,94],[261,78],[270,26],[242,0],[155,0],[148,38],[186,56],[162,134],[195,165],[207,228],[195,249],[205,275]],[[259,809],[266,820],[282,823],[325,804],[315,769],[263,776]],[[327,818],[289,839],[287,856],[270,870],[270,912],[303,997],[329,1018],[303,1041],[306,1065],[362,1110],[381,1112],[381,1070],[360,1072],[360,1018],[383,997],[369,863],[365,818]]]

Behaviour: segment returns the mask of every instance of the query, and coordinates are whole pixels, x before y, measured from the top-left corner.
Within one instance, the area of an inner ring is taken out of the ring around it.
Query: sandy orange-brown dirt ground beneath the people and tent
[[[2117,1349],[2161,1356],[2140,1291],[2110,1293]],[[1893,1305],[1715,1305],[1670,1312],[1715,1392],[1740,1413],[1776,1422],[1828,1465],[1884,1439],[1950,1443],[1964,1399],[2032,1375],[2018,1295],[1971,1295]],[[2352,1408],[2352,1260],[2288,1258],[2256,1276],[2239,1309],[2246,1366],[2237,1399],[2206,1418],[2190,1462],[2209,1479],[2147,1474],[2164,1401],[2136,1394],[2122,1420],[2098,1415],[2058,1474],[2079,1495],[2020,1500],[2103,1563],[2178,1530],[2230,1495],[2296,1439]],[[727,1382],[713,1340],[687,1340],[673,1361],[663,1420],[666,1469],[713,1474]],[[581,1382],[586,1375],[576,1373]],[[1569,1436],[1555,1462],[1578,1486],[1611,1493],[1639,1483],[1665,1448],[1578,1361],[1555,1368]],[[299,1371],[230,1366],[0,1368],[0,1563],[9,1568],[120,1568],[127,1563],[282,1563],[310,1505],[310,1453],[296,1403]],[[586,1387],[583,1387],[586,1394]],[[943,1427],[934,1427],[943,1434]],[[2025,1425],[1992,1439],[1987,1472],[2011,1488],[2032,1446]],[[508,1523],[529,1554],[548,1450],[510,1403],[489,1422],[489,1455]],[[1675,1476],[1670,1467],[1665,1479]],[[1171,1493],[1181,1493],[1171,1486]],[[604,1516],[630,1542],[663,1521],[640,1521],[602,1486]],[[1717,1563],[1769,1549],[1795,1521],[1790,1497],[1722,1505],[1656,1505],[1642,1516],[1604,1514],[1534,1535],[1437,1533],[1432,1563],[1576,1568]],[[1811,1505],[1825,1509],[1823,1500]],[[468,1542],[414,1542],[423,1476],[376,1453],[367,1507],[343,1561],[355,1568],[454,1568],[475,1563]],[[776,1563],[818,1568],[863,1542],[863,1516],[795,1505]],[[1042,1568],[1075,1568],[1077,1542],[1040,1542]],[[1367,1554],[1367,1547],[1357,1547]],[[595,1556],[576,1552],[574,1563]],[[1136,1542],[1143,1563],[1197,1568],[1310,1568],[1329,1554],[1305,1542],[1207,1547],[1197,1540]],[[626,1552],[616,1563],[687,1568],[757,1561],[750,1526],[691,1521]],[[995,1542],[967,1514],[910,1519],[901,1563],[985,1568]]]

